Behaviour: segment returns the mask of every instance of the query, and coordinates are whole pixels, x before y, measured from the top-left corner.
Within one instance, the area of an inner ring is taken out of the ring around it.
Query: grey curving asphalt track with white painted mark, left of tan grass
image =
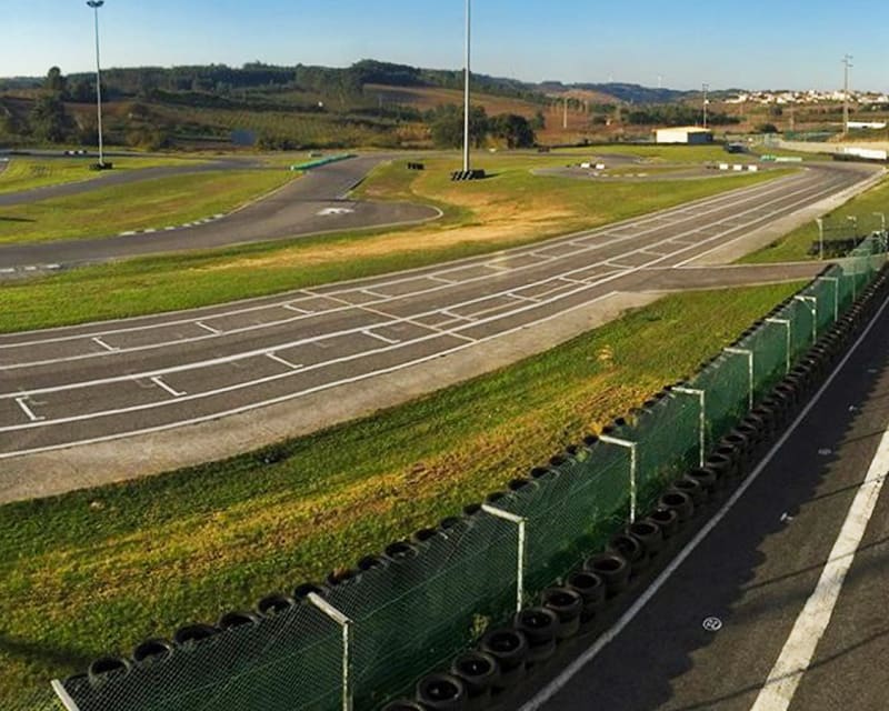
[[[326,231],[414,223],[440,217],[440,211],[427,206],[348,200],[348,192],[383,160],[386,157],[368,156],[311,170],[270,197],[204,224],[179,229],[167,229],[167,226],[159,224],[158,230],[150,233],[0,246],[0,270],[14,273],[23,268],[29,268],[29,271],[50,266],[59,269]],[[59,189],[62,188],[66,186],[59,186]]]

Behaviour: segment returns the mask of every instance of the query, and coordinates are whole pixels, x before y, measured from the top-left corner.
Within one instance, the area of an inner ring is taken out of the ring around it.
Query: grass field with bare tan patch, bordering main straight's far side
[[[20,331],[222,303],[490,253],[558,233],[596,227],[771,176],[730,181],[597,186],[537,178],[528,157],[491,157],[497,178],[455,186],[433,159],[423,177],[393,163],[376,171],[361,194],[441,207],[439,222],[396,231],[363,231],[251,244],[200,253],[87,267],[0,289],[0,331]],[[552,161],[550,161],[550,164]],[[558,164],[558,161],[556,161]],[[786,174],[786,173],[780,173]],[[465,188],[465,189],[463,189]],[[438,199],[433,199],[438,198]],[[77,299],[70,294],[77,293]]]

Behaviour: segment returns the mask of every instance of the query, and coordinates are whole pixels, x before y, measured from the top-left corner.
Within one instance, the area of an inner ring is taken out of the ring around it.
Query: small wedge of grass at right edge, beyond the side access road
[[[878,212],[885,213],[889,219],[889,179],[883,179],[867,192],[852,198],[841,208],[826,214],[823,217],[825,239],[845,239],[851,237],[856,231],[861,236],[879,230],[882,222],[875,214]],[[853,230],[849,217],[857,218],[857,230]],[[762,264],[818,259],[817,256],[808,253],[818,239],[818,226],[812,221],[740,261],[748,264]]]

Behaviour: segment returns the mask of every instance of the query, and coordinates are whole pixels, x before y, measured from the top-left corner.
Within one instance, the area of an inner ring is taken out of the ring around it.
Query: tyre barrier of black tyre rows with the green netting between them
[[[887,293],[885,261],[866,240],[693,377],[483,503],[323,585],[149,640],[132,661],[98,660],[64,691],[80,711],[332,711],[348,663],[356,708],[403,698],[418,678],[414,700],[393,711],[485,708],[486,693],[496,705],[603,623],[752,471]],[[483,664],[453,667],[472,647],[496,662],[490,692],[476,679]]]

